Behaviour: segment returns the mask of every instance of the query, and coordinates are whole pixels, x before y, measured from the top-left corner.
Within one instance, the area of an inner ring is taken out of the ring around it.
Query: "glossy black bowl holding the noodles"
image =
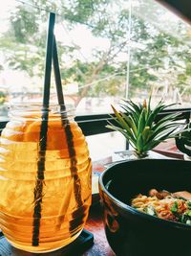
[[[121,256],[191,255],[191,226],[132,208],[131,199],[150,189],[191,191],[191,162],[142,159],[108,168],[99,178],[107,240]]]

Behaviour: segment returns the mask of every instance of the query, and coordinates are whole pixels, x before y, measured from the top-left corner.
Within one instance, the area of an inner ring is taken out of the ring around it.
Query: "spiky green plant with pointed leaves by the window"
[[[174,104],[173,104],[174,105]],[[108,122],[107,128],[122,133],[129,144],[134,148],[138,157],[145,157],[148,151],[159,145],[160,142],[174,138],[180,126],[180,113],[167,113],[159,122],[156,122],[159,113],[171,105],[165,105],[161,100],[155,108],[151,108],[151,96],[148,103],[136,104],[131,100],[124,100],[120,104],[122,111],[112,105],[114,122]]]

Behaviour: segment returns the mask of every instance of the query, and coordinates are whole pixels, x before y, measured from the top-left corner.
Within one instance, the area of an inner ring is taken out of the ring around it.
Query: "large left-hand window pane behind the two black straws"
[[[106,113],[125,97],[128,10],[116,1],[20,1],[1,20],[2,101],[41,101],[49,12],[65,101],[77,114]],[[3,97],[3,96],[2,96]],[[52,79],[53,102],[56,101]]]

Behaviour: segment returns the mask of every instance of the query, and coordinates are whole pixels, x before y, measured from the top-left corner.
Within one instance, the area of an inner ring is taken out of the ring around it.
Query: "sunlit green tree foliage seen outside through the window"
[[[118,54],[126,55],[129,47],[128,9],[123,8],[122,4],[118,8],[114,0],[72,0],[67,3],[60,0],[59,4],[57,1],[45,0],[30,2],[42,9],[59,12],[61,16],[56,17],[57,24],[64,21],[68,30],[83,24],[96,37],[108,40],[107,49],[94,49],[94,60],[76,58],[80,50],[78,45],[57,43],[63,84],[67,81],[78,83],[78,102],[86,96],[123,97],[127,63],[118,61],[117,57]],[[180,39],[160,31],[138,15],[140,11],[143,13],[148,9],[154,21],[163,15],[159,10],[152,10],[152,5],[146,2],[139,0],[138,12],[135,9],[132,15],[130,88],[132,91],[149,89],[155,82],[160,82],[159,69],[165,70],[166,63],[175,77],[174,85],[180,89],[188,87],[191,50]],[[9,31],[0,37],[0,48],[11,69],[25,71],[31,77],[43,77],[47,21],[48,13],[40,12],[37,8],[30,9],[25,4],[18,4],[14,12],[11,12]],[[182,35],[183,28],[180,26],[179,29]],[[63,60],[65,56],[70,58],[70,64],[68,60]],[[185,71],[180,66],[184,66]],[[113,74],[117,75],[111,76]]]

